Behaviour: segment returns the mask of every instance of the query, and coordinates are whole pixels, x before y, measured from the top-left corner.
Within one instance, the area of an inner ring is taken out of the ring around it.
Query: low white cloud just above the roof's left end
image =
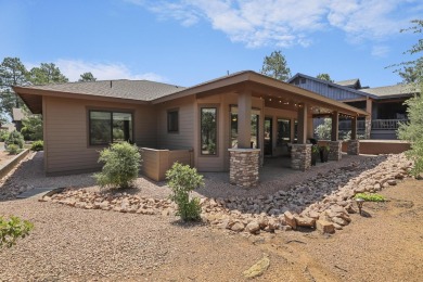
[[[54,64],[69,78],[77,81],[84,73],[92,73],[98,80],[107,79],[146,79],[164,82],[166,79],[154,73],[134,74],[120,63],[92,63],[81,60],[57,60]]]

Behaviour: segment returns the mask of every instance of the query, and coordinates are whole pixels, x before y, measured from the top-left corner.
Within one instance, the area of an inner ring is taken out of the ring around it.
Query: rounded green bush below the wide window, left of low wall
[[[112,144],[100,152],[99,163],[103,162],[102,171],[94,175],[101,187],[129,188],[138,178],[141,154],[137,145],[128,142]]]

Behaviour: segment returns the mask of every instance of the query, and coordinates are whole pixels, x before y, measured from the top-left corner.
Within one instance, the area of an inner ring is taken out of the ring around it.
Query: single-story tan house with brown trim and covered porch
[[[265,154],[281,155],[296,144],[309,148],[315,115],[348,115],[354,120],[367,115],[251,70],[189,88],[107,80],[13,89],[34,114],[43,115],[47,175],[99,169],[99,150],[128,140],[141,148],[185,150],[200,171],[231,170],[232,181],[236,157],[254,154],[262,164]],[[293,167],[303,162],[300,169],[306,169],[307,158],[298,157],[293,157]],[[152,159],[144,158],[143,167],[158,162]]]

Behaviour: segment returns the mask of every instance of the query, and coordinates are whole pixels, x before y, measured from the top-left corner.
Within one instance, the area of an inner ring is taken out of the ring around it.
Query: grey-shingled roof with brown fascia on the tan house
[[[111,87],[112,84],[112,87]],[[188,95],[238,92],[245,89],[256,97],[279,97],[285,93],[297,102],[307,102],[323,108],[338,111],[348,115],[367,115],[366,112],[345,103],[322,97],[312,91],[257,74],[244,70],[222,76],[200,85],[183,88],[146,80],[106,80],[94,82],[70,82],[63,85],[13,87],[33,113],[42,112],[42,95],[78,99],[102,99],[137,103],[162,103]],[[349,88],[348,88],[349,89]],[[352,89],[349,89],[352,90]],[[273,99],[274,100],[274,99]]]

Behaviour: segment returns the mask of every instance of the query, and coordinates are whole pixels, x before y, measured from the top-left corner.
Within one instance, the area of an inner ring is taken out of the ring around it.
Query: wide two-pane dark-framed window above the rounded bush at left
[[[90,111],[90,145],[107,145],[114,142],[132,142],[132,114]]]

